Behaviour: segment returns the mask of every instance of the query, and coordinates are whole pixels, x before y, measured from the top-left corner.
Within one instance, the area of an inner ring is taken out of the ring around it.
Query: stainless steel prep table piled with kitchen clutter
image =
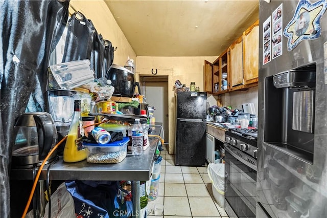
[[[156,123],[157,124],[157,123]],[[151,127],[151,135],[160,135],[160,127]],[[132,181],[133,216],[139,217],[139,181],[150,180],[158,138],[149,138],[150,146],[142,155],[126,158],[115,164],[92,164],[86,160],[77,163],[65,163],[60,157],[50,169],[50,180],[89,180],[89,181]],[[46,180],[49,164],[44,165],[39,180]],[[33,169],[11,169],[11,180],[33,180]]]

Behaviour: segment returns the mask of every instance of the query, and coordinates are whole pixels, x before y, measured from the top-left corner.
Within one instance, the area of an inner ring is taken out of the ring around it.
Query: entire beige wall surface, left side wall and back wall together
[[[174,83],[179,79],[186,86],[190,86],[191,82],[195,82],[196,86],[203,87],[203,65],[204,60],[213,62],[217,57],[136,57],[135,52],[127,41],[122,30],[116,23],[110,10],[104,1],[79,1],[72,0],[70,5],[75,10],[83,13],[87,19],[92,20],[96,30],[104,39],[110,40],[113,47],[117,47],[114,52],[113,62],[120,66],[124,66],[128,56],[134,59],[136,66],[136,81],[139,81],[139,75],[152,75],[151,70],[157,69],[157,75],[168,75],[168,101],[169,114],[174,115]],[[69,12],[74,13],[72,7]],[[169,153],[174,152],[175,139],[175,119],[169,116]]]

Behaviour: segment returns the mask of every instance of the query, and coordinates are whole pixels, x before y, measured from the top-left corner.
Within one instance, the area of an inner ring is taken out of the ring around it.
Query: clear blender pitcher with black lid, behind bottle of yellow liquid
[[[78,99],[76,91],[48,90],[49,110],[57,128],[58,141],[68,134],[74,114],[75,99]],[[59,145],[58,155],[63,155],[64,145],[65,142]]]

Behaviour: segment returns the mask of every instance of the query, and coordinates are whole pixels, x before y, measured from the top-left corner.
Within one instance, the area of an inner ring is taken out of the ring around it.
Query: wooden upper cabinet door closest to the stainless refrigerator
[[[258,82],[259,75],[259,20],[243,33],[244,83]]]

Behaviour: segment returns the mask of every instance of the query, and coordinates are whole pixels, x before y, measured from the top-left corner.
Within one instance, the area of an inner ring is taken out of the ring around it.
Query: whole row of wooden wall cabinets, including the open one
[[[220,95],[258,86],[259,20],[225,50],[213,63],[204,60],[204,89]],[[224,86],[224,81],[227,87]]]

